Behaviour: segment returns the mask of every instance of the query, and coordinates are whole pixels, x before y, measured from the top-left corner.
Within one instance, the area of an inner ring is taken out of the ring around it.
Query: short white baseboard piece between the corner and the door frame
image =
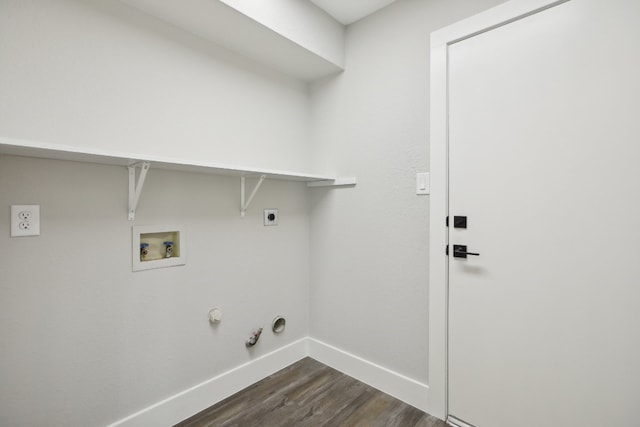
[[[309,356],[427,412],[429,386],[313,338]]]

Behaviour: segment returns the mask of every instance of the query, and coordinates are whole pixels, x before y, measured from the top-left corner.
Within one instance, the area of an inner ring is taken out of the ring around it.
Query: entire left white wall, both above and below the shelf
[[[308,128],[306,86],[119,2],[0,0],[2,136],[304,170]],[[152,168],[135,224],[183,225],[188,264],[132,273],[127,177],[0,157],[0,425],[106,425],[308,334],[304,184],[241,219],[239,178]],[[31,203],[42,235],[10,238]]]

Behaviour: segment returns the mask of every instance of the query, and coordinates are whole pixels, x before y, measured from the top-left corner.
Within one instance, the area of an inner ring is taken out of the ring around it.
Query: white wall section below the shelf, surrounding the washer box
[[[240,218],[238,181],[152,169],[135,224],[183,225],[188,263],[133,273],[126,168],[0,157],[0,425],[106,425],[308,334],[307,189],[267,181]],[[10,238],[31,203],[42,235]]]

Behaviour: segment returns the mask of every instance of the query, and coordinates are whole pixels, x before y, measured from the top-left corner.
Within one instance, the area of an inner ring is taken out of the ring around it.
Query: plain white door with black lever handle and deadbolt
[[[448,76],[451,419],[640,426],[640,1],[457,42]]]

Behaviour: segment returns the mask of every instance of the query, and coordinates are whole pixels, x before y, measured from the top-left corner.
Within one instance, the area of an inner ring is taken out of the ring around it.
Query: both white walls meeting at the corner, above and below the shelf
[[[0,158],[0,424],[104,425],[309,332],[427,382],[428,34],[495,3],[396,2],[310,101],[119,2],[0,0],[2,136],[358,176],[269,181],[240,219],[237,179],[152,169],[135,223],[184,225],[189,260],[132,273],[124,168]],[[9,238],[28,203],[42,236]],[[287,332],[247,352],[276,314]]]

